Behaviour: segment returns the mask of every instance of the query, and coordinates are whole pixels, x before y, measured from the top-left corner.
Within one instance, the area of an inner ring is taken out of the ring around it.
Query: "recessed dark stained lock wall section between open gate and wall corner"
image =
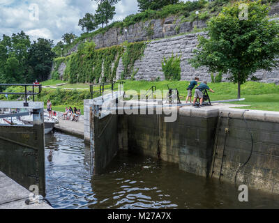
[[[183,113],[173,123],[165,123],[164,118],[156,114],[119,116],[125,123],[119,134],[120,148],[174,162],[189,173],[209,176],[217,118]]]

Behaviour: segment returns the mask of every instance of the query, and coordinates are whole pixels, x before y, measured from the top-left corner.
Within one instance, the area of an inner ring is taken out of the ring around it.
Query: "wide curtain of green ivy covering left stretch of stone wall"
[[[144,54],[145,43],[125,43],[123,45],[95,49],[93,42],[82,43],[76,53],[56,59],[52,77],[56,79],[59,66],[66,63],[63,80],[74,83],[112,82],[116,78],[119,61],[123,60],[123,79],[130,77],[134,64]],[[125,51],[125,52],[124,52]]]

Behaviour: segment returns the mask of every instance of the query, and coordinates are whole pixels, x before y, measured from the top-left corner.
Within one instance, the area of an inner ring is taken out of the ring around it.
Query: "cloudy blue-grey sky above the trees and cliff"
[[[65,33],[82,33],[78,26],[86,13],[95,13],[91,0],[0,0],[0,39],[24,31],[31,40],[47,38],[57,43]],[[113,21],[138,11],[137,0],[121,0]]]

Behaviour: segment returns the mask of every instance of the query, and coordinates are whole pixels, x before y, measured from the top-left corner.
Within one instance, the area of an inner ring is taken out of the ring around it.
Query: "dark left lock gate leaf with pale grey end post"
[[[38,185],[45,195],[43,105],[33,112],[33,125],[0,125],[0,171],[27,189]]]

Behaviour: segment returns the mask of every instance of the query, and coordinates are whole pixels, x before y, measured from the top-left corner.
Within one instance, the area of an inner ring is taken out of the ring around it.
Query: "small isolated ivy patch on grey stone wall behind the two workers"
[[[181,79],[180,62],[181,56],[174,56],[174,54],[172,54],[169,59],[166,59],[164,56],[162,61],[162,70],[166,80],[179,81]]]

